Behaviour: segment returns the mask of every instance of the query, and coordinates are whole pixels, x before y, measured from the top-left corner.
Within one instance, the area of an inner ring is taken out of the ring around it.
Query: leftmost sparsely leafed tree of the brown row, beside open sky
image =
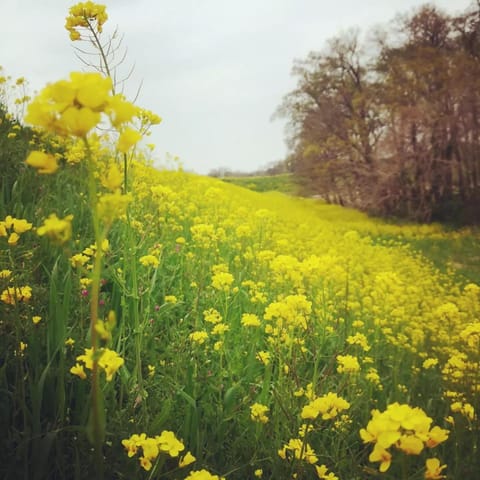
[[[293,173],[312,193],[362,206],[359,188],[374,175],[382,122],[358,32],[296,61],[293,74],[297,88],[277,110],[289,118]]]

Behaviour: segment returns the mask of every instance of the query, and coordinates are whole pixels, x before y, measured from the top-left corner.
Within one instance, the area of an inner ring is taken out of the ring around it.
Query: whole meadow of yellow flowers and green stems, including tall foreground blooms
[[[0,110],[0,477],[478,478],[480,286],[408,246],[474,233],[157,170],[105,67]]]

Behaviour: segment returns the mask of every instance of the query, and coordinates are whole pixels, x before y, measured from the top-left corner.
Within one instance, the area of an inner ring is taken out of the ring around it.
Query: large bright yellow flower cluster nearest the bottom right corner
[[[367,428],[360,430],[364,443],[373,443],[371,462],[380,462],[380,471],[386,472],[392,462],[391,448],[408,455],[419,455],[425,447],[433,448],[447,440],[449,431],[431,428],[432,419],[418,407],[393,403],[384,412],[372,411]]]

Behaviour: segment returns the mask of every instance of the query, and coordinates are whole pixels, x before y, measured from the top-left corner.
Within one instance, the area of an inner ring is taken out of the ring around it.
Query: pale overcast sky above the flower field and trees
[[[64,29],[68,0],[0,0],[4,74],[32,92],[85,70]],[[272,120],[295,88],[295,59],[351,28],[368,31],[421,0],[107,0],[105,33],[127,49],[125,85],[162,117],[149,142],[155,162],[178,156],[185,170],[251,172],[285,158],[285,121]],[[460,13],[471,0],[432,0]]]

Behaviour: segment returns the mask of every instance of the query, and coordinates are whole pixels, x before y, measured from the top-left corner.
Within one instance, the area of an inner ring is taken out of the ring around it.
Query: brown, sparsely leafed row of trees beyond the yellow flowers
[[[432,5],[294,63],[288,164],[304,193],[384,216],[480,221],[480,0]]]

